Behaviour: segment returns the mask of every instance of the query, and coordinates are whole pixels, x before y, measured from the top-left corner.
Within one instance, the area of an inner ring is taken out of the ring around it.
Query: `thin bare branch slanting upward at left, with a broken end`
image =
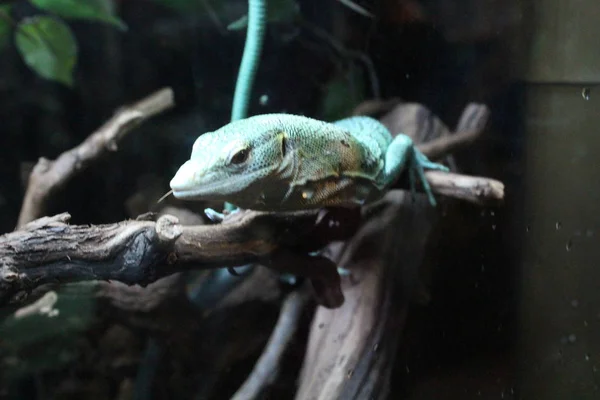
[[[117,111],[83,143],[62,153],[56,160],[40,158],[29,176],[17,227],[43,216],[48,199],[74,175],[102,154],[117,150],[117,142],[133,128],[174,105],[173,91],[170,88],[159,90]]]

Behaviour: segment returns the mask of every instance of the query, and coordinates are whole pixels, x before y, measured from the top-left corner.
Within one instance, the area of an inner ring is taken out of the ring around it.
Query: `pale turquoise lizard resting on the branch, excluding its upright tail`
[[[369,117],[333,123],[291,114],[233,121],[201,135],[170,186],[179,199],[214,200],[262,211],[360,206],[381,198],[408,168],[436,202],[431,162],[403,134]],[[415,175],[416,174],[416,175]]]

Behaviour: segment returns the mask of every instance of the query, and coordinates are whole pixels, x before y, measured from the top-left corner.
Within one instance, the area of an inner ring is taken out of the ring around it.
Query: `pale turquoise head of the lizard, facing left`
[[[263,117],[263,118],[261,118]],[[234,121],[196,139],[192,154],[170,186],[184,200],[256,202],[285,156],[285,134],[277,118]]]

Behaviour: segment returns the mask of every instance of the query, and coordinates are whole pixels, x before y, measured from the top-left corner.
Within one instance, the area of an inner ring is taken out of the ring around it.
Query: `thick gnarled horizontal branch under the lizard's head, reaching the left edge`
[[[68,219],[66,213],[41,218],[0,236],[0,304],[49,283],[116,280],[146,285],[188,269],[262,262],[281,271],[309,273],[318,297],[336,306],[343,297],[335,266],[306,252],[347,238],[358,221],[345,210],[242,211],[221,224],[204,226],[183,226],[170,215],[156,222],[97,226],[68,225]],[[298,252],[298,261],[292,250]],[[315,268],[300,266],[307,260]]]

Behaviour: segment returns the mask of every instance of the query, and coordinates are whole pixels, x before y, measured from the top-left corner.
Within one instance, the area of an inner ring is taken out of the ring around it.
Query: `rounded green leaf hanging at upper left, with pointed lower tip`
[[[77,43],[71,29],[52,17],[23,20],[15,34],[17,49],[38,75],[73,86]]]

